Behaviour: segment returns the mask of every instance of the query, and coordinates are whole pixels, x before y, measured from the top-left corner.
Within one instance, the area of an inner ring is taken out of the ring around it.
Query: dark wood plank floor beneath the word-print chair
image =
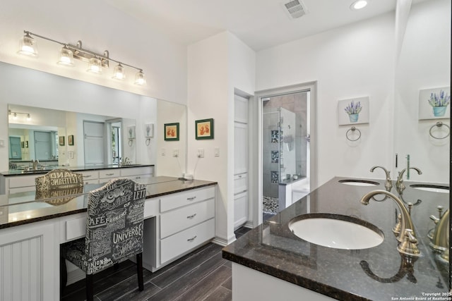
[[[235,233],[238,238],[248,231],[239,228]],[[117,271],[110,268],[95,274],[95,300],[232,300],[231,262],[222,258],[221,250],[208,243],[155,273],[144,269],[142,292],[135,264],[121,262]],[[68,285],[61,300],[85,300],[85,281]]]

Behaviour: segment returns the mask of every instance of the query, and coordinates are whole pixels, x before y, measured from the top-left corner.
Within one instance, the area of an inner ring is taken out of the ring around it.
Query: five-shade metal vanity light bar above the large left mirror
[[[118,65],[114,67],[112,78],[117,80],[124,80],[124,78],[126,78],[124,66],[127,66],[138,71],[135,75],[136,85],[144,85],[146,82],[143,69],[110,58],[108,50],[105,50],[103,54],[97,54],[96,52],[83,49],[81,41],[78,41],[76,45],[72,45],[59,42],[55,39],[50,39],[49,37],[37,35],[27,30],[24,30],[23,32],[25,33],[25,35],[22,37],[22,39],[20,39],[20,49],[18,51],[18,54],[37,57],[37,44],[34,37],[40,37],[41,39],[46,39],[47,41],[54,42],[63,46],[59,51],[59,61],[57,62],[59,65],[73,66],[73,60],[77,59],[80,61],[88,62],[88,72],[100,74],[102,73],[102,68],[109,68],[109,62],[113,61]]]

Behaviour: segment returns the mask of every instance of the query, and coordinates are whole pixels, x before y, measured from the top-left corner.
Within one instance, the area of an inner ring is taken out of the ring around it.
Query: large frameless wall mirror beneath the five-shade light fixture
[[[35,159],[45,169],[127,161],[154,164],[159,176],[186,170],[186,106],[8,63],[0,68],[8,114],[2,171]],[[165,140],[167,123],[179,124],[177,140]]]

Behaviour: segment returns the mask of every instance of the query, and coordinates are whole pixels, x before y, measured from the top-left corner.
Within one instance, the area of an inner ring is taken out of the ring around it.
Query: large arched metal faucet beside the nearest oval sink
[[[412,224],[410,213],[405,208],[403,202],[398,197],[396,197],[396,195],[393,195],[391,192],[388,192],[386,190],[374,190],[367,192],[367,194],[362,196],[361,204],[369,204],[370,199],[374,197],[374,195],[379,194],[387,195],[389,198],[393,199],[400,210],[400,225],[396,225],[396,227],[393,228],[393,233],[396,235],[397,240],[400,242],[397,247],[398,252],[409,256],[420,256],[421,253],[417,248],[415,227]],[[399,226],[400,230],[398,229]]]

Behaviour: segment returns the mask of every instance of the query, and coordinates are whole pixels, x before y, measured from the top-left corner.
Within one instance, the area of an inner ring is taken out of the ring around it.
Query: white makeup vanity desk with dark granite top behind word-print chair
[[[0,195],[0,300],[23,294],[59,300],[59,245],[85,235],[88,194],[104,184],[49,199],[35,199],[34,190]],[[146,269],[160,269],[214,238],[216,182],[163,176],[143,184]]]

